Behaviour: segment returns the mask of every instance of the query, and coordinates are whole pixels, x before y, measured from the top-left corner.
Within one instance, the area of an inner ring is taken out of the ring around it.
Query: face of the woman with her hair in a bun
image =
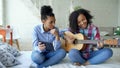
[[[47,16],[47,19],[42,20],[44,24],[44,30],[49,31],[55,27],[55,17],[54,16]]]

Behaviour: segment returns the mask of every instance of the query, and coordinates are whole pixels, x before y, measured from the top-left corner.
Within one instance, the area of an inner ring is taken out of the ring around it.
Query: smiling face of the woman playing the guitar
[[[87,19],[85,17],[85,15],[83,14],[80,14],[77,18],[77,23],[78,23],[78,26],[82,29],[85,29],[87,28]]]

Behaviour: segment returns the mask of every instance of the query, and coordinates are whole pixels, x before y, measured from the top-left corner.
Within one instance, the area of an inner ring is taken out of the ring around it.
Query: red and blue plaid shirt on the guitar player
[[[98,27],[93,24],[89,24],[87,29],[79,29],[79,32],[87,37],[88,40],[100,40],[100,33]],[[90,46],[89,46],[90,45]],[[93,49],[92,44],[88,44],[86,49],[82,52],[85,52],[84,57],[88,57],[88,54]]]

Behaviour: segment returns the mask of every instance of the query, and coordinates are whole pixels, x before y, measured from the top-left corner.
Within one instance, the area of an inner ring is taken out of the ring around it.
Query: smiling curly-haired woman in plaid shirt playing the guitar
[[[67,42],[68,45],[68,49],[66,50],[69,51],[70,61],[74,65],[100,64],[113,55],[112,49],[103,48],[103,42],[100,41],[96,44],[87,43],[83,49],[80,47],[72,48],[71,42],[74,41],[73,43],[76,43],[75,39],[79,37],[83,40],[100,40],[99,29],[92,24],[92,18],[93,16],[86,9],[73,11],[69,16],[69,29],[65,30],[65,32],[63,31],[64,38],[67,40],[65,43]],[[79,35],[75,36],[75,34]],[[97,49],[93,45],[96,45]]]

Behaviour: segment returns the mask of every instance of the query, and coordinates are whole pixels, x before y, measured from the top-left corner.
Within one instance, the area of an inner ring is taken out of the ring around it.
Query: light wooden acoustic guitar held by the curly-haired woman
[[[97,42],[117,46],[120,44],[120,39],[87,40],[81,33],[73,34],[70,31],[66,31],[64,33],[64,39],[61,39],[61,42],[62,48],[70,51],[71,49],[82,50],[85,48],[85,44],[97,44]]]

